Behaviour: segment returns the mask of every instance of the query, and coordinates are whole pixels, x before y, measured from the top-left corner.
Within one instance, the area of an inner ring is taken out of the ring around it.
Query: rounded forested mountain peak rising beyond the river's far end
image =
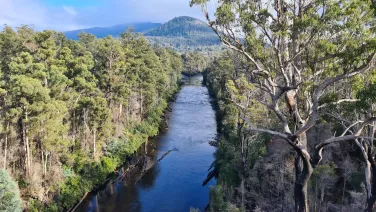
[[[196,50],[197,48],[218,47],[218,36],[203,21],[181,16],[144,32],[152,42],[177,50]]]

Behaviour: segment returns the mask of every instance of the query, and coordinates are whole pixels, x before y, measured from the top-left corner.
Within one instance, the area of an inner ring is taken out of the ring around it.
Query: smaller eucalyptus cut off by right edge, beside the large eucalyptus
[[[368,119],[371,123],[364,127],[367,137],[354,139],[355,144],[360,149],[360,158],[365,164],[366,211],[374,211],[376,202],[376,149],[374,147],[376,120],[372,118],[376,112],[375,74],[373,72],[348,83],[352,85],[352,89],[350,90],[351,93],[347,95],[355,96],[356,102],[346,105],[334,105],[326,110],[330,121],[338,123],[343,128],[342,134],[357,134],[367,123],[362,121],[364,119]]]

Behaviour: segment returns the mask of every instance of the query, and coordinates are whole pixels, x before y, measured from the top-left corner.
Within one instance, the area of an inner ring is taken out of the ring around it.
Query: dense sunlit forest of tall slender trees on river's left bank
[[[0,55],[0,164],[31,211],[72,207],[157,135],[182,71],[178,54],[130,32],[73,41],[5,27]]]

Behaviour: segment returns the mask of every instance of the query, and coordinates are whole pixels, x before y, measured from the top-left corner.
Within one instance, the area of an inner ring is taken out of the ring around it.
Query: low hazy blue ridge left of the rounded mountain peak
[[[133,28],[135,32],[144,32],[147,30],[150,30],[152,28],[156,28],[161,26],[160,23],[132,23],[132,24],[121,24],[121,25],[115,25],[111,27],[94,27],[94,28],[88,28],[88,29],[79,29],[74,31],[68,31],[64,32],[65,36],[72,40],[77,40],[78,35],[81,32],[90,33],[95,35],[98,38],[103,38],[108,35],[111,35],[113,37],[119,37],[121,33],[123,33],[127,28]]]

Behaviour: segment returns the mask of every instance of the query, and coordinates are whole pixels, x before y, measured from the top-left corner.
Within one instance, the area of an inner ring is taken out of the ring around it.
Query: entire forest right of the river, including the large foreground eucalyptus
[[[228,52],[210,211],[376,210],[373,1],[192,0]]]

